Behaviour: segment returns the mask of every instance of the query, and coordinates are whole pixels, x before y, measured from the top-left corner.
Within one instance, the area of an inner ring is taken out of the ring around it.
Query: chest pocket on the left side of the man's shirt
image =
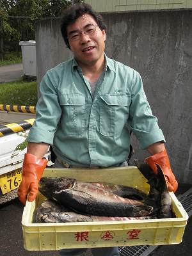
[[[65,135],[81,136],[84,132],[85,98],[84,95],[59,95],[62,109],[61,126]]]

